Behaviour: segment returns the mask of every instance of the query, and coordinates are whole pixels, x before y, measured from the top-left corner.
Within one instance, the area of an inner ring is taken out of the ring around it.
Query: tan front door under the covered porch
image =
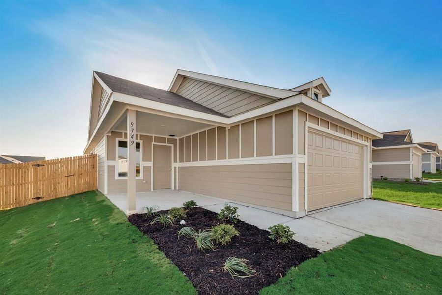
[[[172,188],[172,148],[154,145],[154,189]]]

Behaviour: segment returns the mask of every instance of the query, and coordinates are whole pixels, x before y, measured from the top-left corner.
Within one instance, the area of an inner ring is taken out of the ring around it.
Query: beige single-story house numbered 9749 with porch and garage
[[[98,188],[172,189],[301,217],[371,197],[382,133],[323,103],[323,78],[279,89],[177,70],[162,90],[93,72],[88,143]],[[128,143],[129,139],[129,143]]]

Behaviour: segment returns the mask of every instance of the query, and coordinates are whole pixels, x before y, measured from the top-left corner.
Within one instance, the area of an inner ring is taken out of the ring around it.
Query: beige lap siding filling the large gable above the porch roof
[[[275,100],[269,97],[185,77],[176,90],[181,95],[226,116],[235,116]]]

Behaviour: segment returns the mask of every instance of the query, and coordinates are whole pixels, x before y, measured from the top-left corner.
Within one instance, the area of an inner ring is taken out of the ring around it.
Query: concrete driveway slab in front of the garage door
[[[310,214],[309,217],[442,256],[441,211],[364,200]]]

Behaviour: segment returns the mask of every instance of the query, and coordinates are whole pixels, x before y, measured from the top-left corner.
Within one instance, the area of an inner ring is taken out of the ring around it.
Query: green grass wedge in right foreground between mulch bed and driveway
[[[276,284],[274,294],[441,294],[442,257],[375,236],[304,261]]]

